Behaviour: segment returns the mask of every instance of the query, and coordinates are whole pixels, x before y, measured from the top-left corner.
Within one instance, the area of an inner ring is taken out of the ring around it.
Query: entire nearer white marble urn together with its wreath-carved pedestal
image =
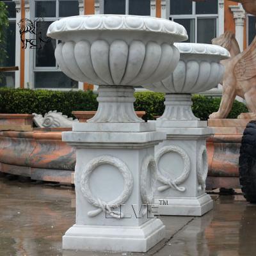
[[[76,224],[63,249],[146,252],[164,238],[154,218],[154,146],[166,138],[134,112],[134,85],[157,83],[175,69],[186,30],[169,20],[86,15],[53,22],[55,56],[72,79],[99,84],[99,108],[63,141],[76,152]]]

